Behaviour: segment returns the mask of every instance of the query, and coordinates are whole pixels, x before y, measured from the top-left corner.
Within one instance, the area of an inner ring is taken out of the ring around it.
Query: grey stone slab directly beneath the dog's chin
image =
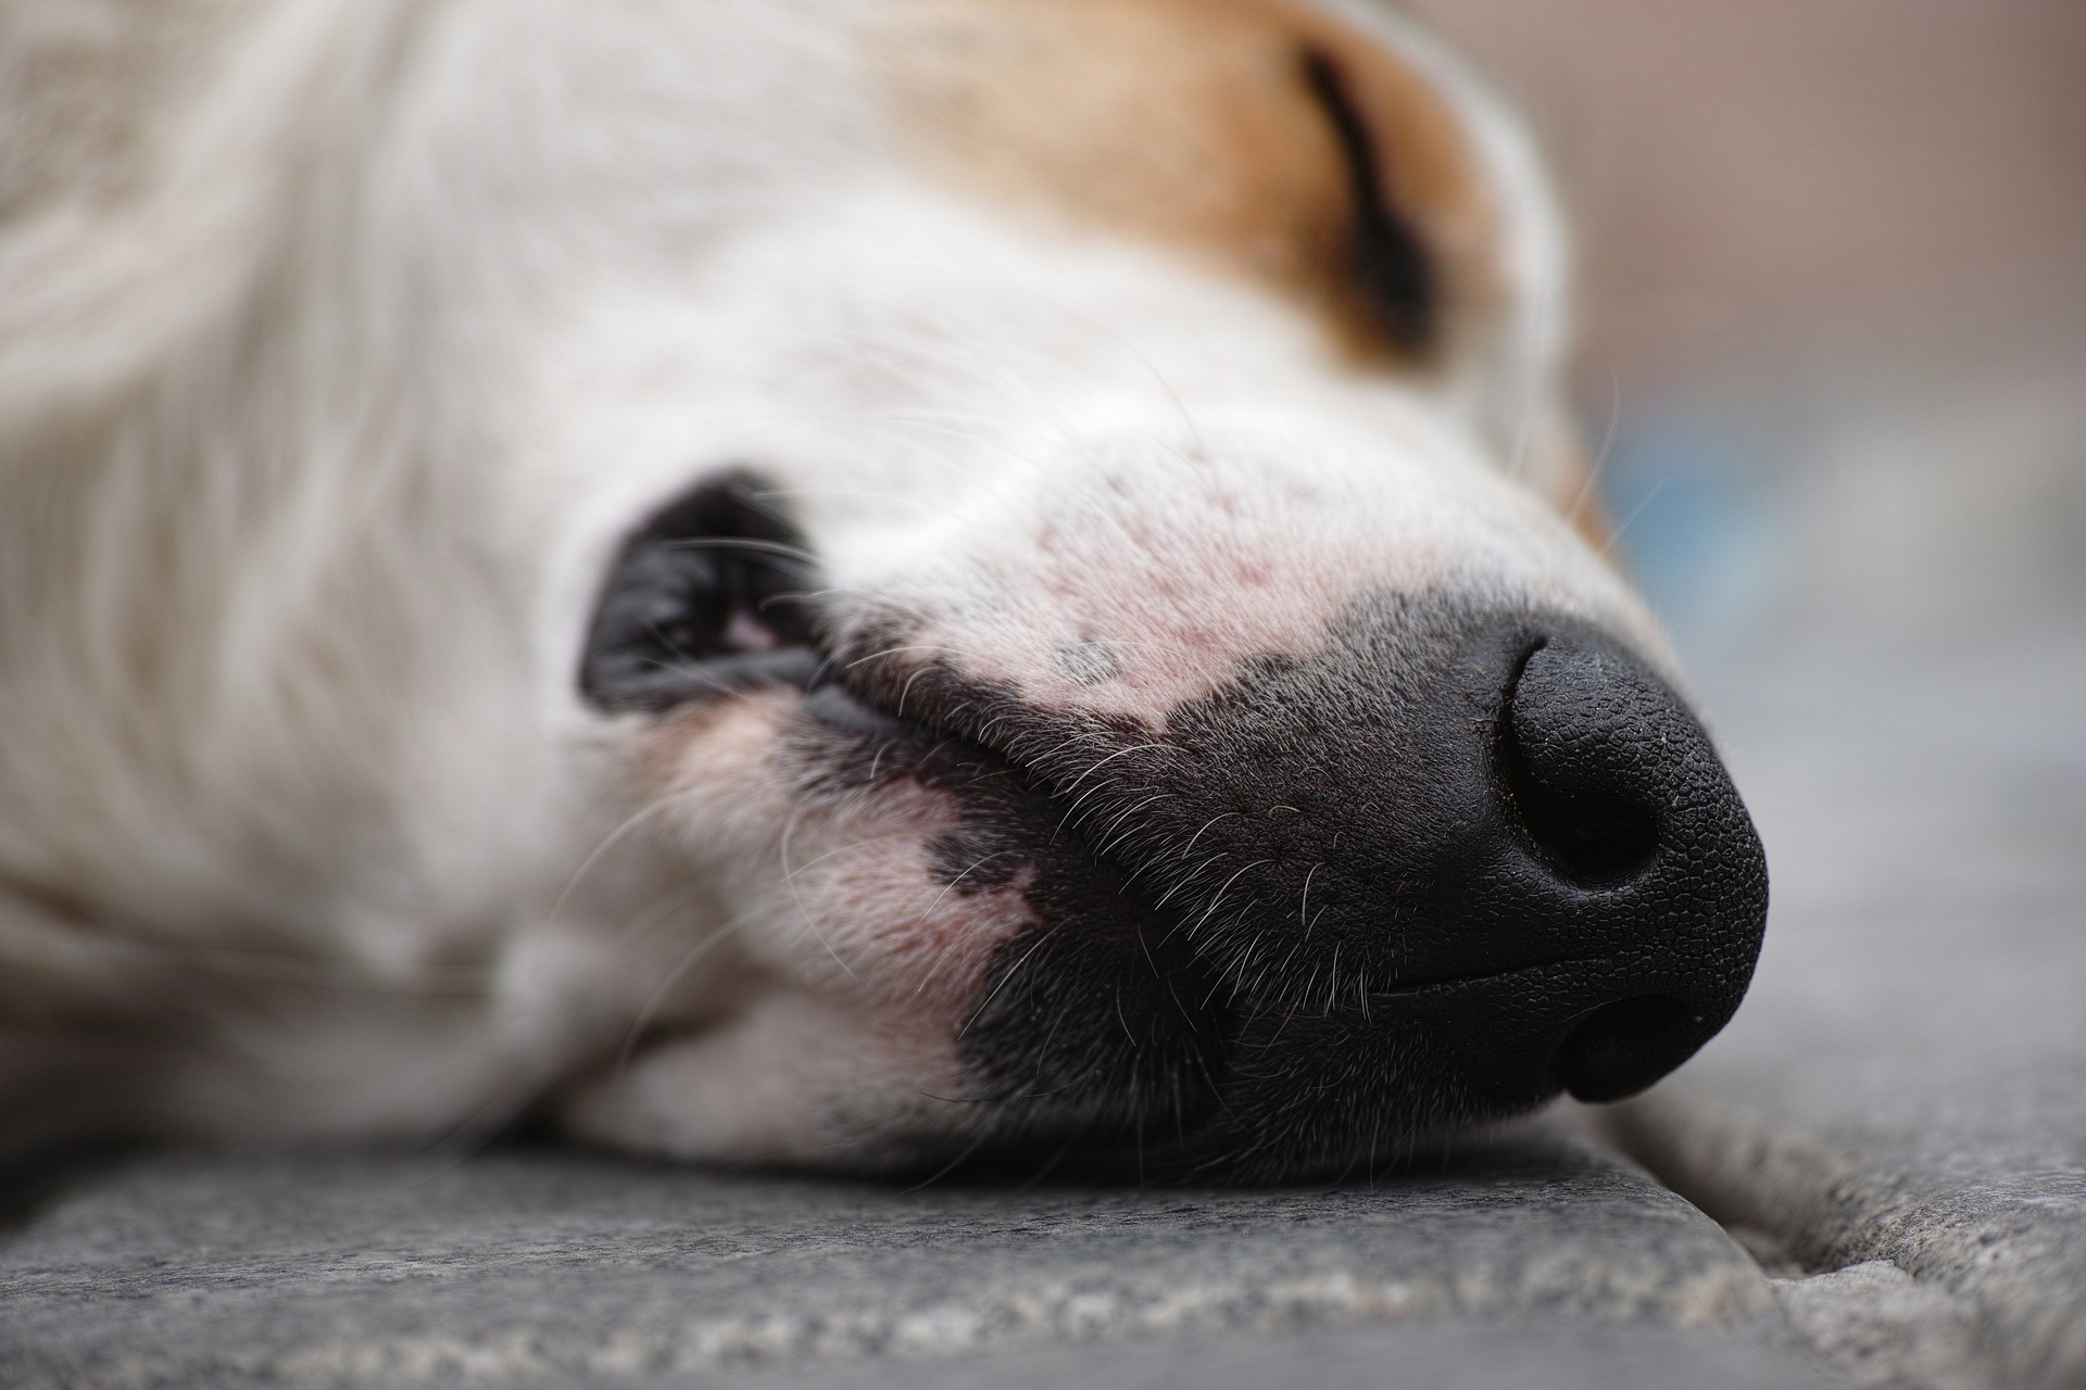
[[[899,1192],[572,1152],[156,1157],[31,1215],[0,1252],[0,1307],[8,1386],[569,1384],[862,1357],[909,1384],[907,1361],[1022,1344],[1525,1317],[1736,1330],[1800,1375],[1758,1342],[1779,1327],[1761,1269],[1556,1127],[1433,1175],[1285,1192]],[[1602,1346],[1567,1352],[1594,1375]]]

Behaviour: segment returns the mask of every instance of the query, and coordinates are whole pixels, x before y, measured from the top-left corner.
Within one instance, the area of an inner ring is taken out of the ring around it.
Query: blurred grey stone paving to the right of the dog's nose
[[[1813,1275],[1790,1317],[1859,1380],[2086,1386],[2086,629],[1842,634],[1713,702],[1767,950],[1610,1132]]]

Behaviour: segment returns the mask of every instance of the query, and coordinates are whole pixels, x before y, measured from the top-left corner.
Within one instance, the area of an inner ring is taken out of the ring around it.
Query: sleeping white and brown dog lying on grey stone
[[[19,0],[0,1115],[1339,1173],[1733,1013],[1529,148],[1354,0]]]

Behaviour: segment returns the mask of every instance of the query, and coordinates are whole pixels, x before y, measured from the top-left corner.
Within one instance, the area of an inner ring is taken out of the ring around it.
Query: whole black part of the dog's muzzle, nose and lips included
[[[909,721],[876,713],[895,686]],[[960,798],[955,892],[1035,911],[962,1036],[1024,1152],[1275,1177],[1615,1100],[1723,1027],[1758,957],[1767,867],[1708,736],[1573,619],[1356,604],[1162,729],[941,663],[809,709]]]

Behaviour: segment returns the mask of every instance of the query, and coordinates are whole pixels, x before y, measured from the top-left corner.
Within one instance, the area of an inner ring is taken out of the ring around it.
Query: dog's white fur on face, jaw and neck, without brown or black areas
[[[1560,238],[1429,44],[1345,6],[1477,131],[1519,311],[1400,377],[914,171],[874,8],[196,2],[175,56],[65,31],[200,75],[123,88],[150,138],[102,150],[115,188],[44,171],[0,225],[6,1144],[432,1138],[544,1094],[697,1157],[962,1142],[951,1036],[1020,904],[922,896],[945,809],[793,804],[782,696],[578,700],[609,556],[705,469],[780,479],[843,636],[907,604],[1041,704],[1162,717],[1310,650],[1362,579],[1658,646],[1510,477],[1554,427]]]

